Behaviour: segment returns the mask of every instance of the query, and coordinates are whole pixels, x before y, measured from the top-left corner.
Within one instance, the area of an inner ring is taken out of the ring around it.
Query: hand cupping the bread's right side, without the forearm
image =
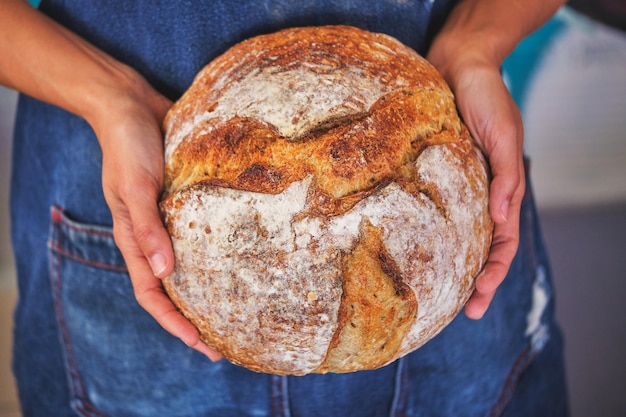
[[[493,175],[489,212],[495,228],[487,263],[465,306],[465,314],[472,319],[485,314],[517,252],[525,191],[522,118],[504,85],[499,64],[480,51],[480,47],[466,46],[447,55],[453,59],[441,60],[434,47],[428,56],[455,93],[459,112],[487,156]]]

